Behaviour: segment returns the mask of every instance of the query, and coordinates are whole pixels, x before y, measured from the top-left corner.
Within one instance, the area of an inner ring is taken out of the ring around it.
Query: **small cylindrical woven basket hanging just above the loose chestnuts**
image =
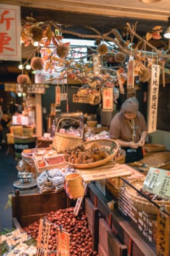
[[[83,179],[80,173],[70,173],[65,177],[64,188],[71,199],[84,196]]]

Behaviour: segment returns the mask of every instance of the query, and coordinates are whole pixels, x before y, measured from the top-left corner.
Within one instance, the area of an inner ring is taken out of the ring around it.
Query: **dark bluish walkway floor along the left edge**
[[[17,161],[13,156],[8,155],[7,145],[2,145],[0,149],[0,224],[1,231],[4,228],[12,227],[11,207],[4,209],[8,202],[8,195],[14,192],[13,182],[18,179],[16,169]]]

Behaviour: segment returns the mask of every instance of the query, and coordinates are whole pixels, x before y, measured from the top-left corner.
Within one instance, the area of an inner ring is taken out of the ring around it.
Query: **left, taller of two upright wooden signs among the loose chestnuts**
[[[49,236],[50,236],[50,228],[51,228],[50,223],[45,221],[45,219],[40,220],[38,239],[37,239],[36,256],[47,255],[48,239],[49,239]]]

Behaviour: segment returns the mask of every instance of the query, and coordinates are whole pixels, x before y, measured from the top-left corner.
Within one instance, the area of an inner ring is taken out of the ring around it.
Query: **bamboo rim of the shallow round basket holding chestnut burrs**
[[[102,160],[93,162],[93,163],[74,164],[74,163],[70,163],[67,161],[66,161],[66,163],[71,165],[74,168],[93,168],[93,167],[108,163],[108,161],[111,161],[117,155],[118,143],[115,140],[110,140],[110,139],[92,140],[92,141],[87,141],[87,142],[81,143],[80,145],[83,146],[85,148],[85,150],[87,150],[90,147],[92,147],[92,145],[94,145],[94,143],[97,143],[98,145],[100,145],[104,149],[106,149],[108,152],[110,152],[110,156],[108,156]]]

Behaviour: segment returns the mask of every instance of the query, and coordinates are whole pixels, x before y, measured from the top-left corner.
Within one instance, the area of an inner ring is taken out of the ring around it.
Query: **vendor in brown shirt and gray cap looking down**
[[[139,102],[135,97],[125,100],[110,124],[110,138],[117,140],[125,150],[125,163],[143,159],[142,147],[148,132],[145,118],[138,109]]]

